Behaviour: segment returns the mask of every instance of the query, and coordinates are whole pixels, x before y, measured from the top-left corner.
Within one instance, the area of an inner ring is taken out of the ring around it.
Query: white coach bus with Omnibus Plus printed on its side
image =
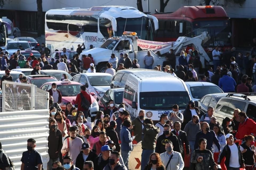
[[[45,42],[51,51],[64,47],[76,50],[82,43],[86,49],[90,45],[99,47],[124,31],[137,32],[139,39],[153,41],[153,28],[158,29],[157,18],[130,6],[62,8],[45,14]]]

